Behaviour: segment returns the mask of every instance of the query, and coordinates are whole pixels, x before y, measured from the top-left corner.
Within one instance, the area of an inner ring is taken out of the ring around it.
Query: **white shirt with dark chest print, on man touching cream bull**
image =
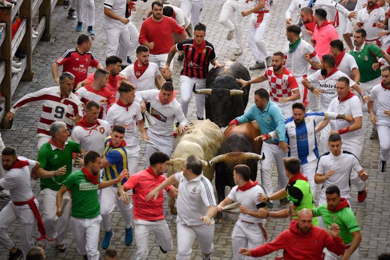
[[[186,125],[187,119],[183,114],[180,103],[175,98],[168,104],[163,105],[158,99],[159,93],[160,91],[155,89],[137,91],[135,101],[147,100],[150,102],[150,114],[156,124],[149,131],[161,136],[172,136],[174,134],[175,119],[181,125]]]

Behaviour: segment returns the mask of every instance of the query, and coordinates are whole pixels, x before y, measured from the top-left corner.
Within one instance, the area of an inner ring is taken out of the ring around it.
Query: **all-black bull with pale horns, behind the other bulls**
[[[206,88],[195,90],[195,94],[206,94],[206,119],[219,127],[244,114],[248,104],[251,85],[245,88],[235,79],[251,80],[249,71],[239,62],[228,61],[224,67],[213,68],[206,78]]]

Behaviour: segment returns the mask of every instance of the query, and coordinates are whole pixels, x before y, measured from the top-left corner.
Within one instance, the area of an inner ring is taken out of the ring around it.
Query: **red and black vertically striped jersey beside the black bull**
[[[214,46],[207,40],[197,46],[195,40],[188,39],[176,44],[178,51],[184,51],[184,67],[180,75],[190,78],[206,79],[209,73],[209,64],[215,60]]]

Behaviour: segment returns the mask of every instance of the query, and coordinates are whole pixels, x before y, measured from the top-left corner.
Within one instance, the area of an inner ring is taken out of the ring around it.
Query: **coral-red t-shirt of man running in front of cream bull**
[[[165,219],[162,208],[162,203],[164,202],[162,190],[156,200],[152,198],[146,201],[146,196],[167,178],[164,175],[154,175],[147,170],[152,171],[150,167],[140,171],[130,176],[123,185],[129,190],[133,189],[133,213],[135,220],[162,220]],[[165,188],[165,190],[168,192],[171,188],[173,188],[172,185]]]

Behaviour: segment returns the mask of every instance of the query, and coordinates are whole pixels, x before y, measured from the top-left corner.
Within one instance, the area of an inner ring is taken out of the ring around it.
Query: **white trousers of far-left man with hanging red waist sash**
[[[35,204],[38,207],[37,199],[35,199]],[[20,220],[21,251],[23,259],[26,259],[28,251],[34,247],[31,233],[34,230],[35,217],[29,205],[15,206],[14,202],[10,201],[0,211],[0,245],[7,250],[15,246],[7,234],[7,228],[17,220]]]

